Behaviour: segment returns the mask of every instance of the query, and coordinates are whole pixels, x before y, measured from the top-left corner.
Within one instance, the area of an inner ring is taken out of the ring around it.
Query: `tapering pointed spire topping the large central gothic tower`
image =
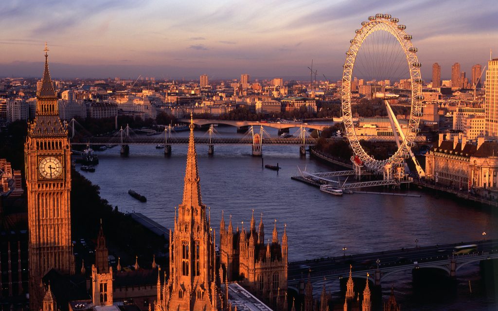
[[[197,153],[194,142],[194,121],[190,115],[190,137],[188,142],[187,166],[185,168],[185,185],[183,188],[182,207],[202,207],[201,186],[197,170]]]

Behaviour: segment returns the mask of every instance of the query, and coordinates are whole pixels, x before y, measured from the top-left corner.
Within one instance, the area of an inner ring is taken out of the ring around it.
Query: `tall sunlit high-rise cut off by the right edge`
[[[486,136],[498,138],[498,58],[488,62],[486,71]]]

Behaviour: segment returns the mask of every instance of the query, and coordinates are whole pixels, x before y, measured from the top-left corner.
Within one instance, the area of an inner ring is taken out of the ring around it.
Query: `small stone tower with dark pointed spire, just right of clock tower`
[[[95,265],[92,265],[92,299],[94,306],[113,305],[113,267],[109,267],[108,256],[109,251],[101,222],[95,249]]]

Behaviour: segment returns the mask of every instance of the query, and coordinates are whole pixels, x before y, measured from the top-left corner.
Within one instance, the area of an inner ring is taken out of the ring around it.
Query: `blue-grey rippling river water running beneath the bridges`
[[[219,137],[243,136],[233,127],[220,126],[217,130]],[[277,136],[276,129],[266,130]],[[188,131],[174,135],[188,136]],[[195,135],[206,134],[196,131]],[[233,216],[235,228],[242,226],[242,221],[249,225],[254,209],[256,225],[263,214],[266,237],[271,236],[274,219],[280,237],[287,224],[290,261],[338,256],[343,254],[343,247],[347,254],[354,254],[414,247],[415,240],[419,245],[435,245],[479,240],[483,232],[487,238],[498,237],[496,213],[475,204],[436,199],[416,190],[410,193],[421,197],[336,197],[291,180],[291,176],[298,175],[298,167],[307,171],[333,170],[309,154],[300,156],[298,146],[263,146],[264,163],[278,163],[282,167],[278,173],[262,168],[261,158],[251,156],[250,146],[216,145],[213,156],[208,155],[205,145],[196,149],[202,201],[211,207],[215,229],[219,228],[222,210],[227,223],[229,215]],[[97,152],[100,164],[95,173],[81,173],[101,187],[101,197],[111,205],[121,211],[141,212],[170,228],[174,207],[182,200],[187,146],[173,145],[169,157],[163,152],[153,145],[131,145],[129,156],[122,157],[119,147],[110,148]],[[146,196],[147,203],[130,197],[129,189]],[[469,266],[459,270],[457,298],[445,300],[444,305],[434,302],[424,309],[425,304],[412,293],[410,273],[385,281],[388,284],[382,284],[383,292],[389,293],[390,283],[394,282],[403,310],[495,310],[494,294],[467,294],[468,280],[479,280],[478,265]]]

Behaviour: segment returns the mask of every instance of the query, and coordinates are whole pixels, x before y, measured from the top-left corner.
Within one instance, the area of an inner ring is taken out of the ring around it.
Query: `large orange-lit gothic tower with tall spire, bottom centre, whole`
[[[201,201],[192,121],[184,181],[183,201],[178,206],[178,218],[175,211],[174,231],[170,233],[169,279],[158,293],[155,310],[219,310],[215,232],[211,232],[206,206]]]

